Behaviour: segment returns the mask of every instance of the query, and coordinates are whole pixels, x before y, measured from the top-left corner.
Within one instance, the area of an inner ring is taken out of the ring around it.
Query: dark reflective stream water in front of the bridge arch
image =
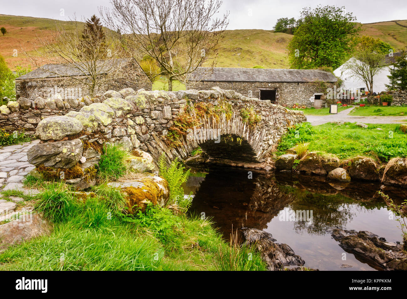
[[[300,255],[305,266],[319,270],[374,270],[339,247],[331,237],[332,227],[372,231],[389,242],[401,241],[398,222],[389,219],[390,211],[377,191],[401,201],[404,188],[381,189],[379,183],[354,181],[334,184],[324,177],[291,173],[252,172],[249,177],[243,168],[191,174],[184,186],[185,193],[195,193],[190,211],[211,217],[226,239],[232,227],[235,233],[242,227],[267,231]],[[290,217],[303,210],[303,219]],[[352,267],[341,268],[342,264]]]

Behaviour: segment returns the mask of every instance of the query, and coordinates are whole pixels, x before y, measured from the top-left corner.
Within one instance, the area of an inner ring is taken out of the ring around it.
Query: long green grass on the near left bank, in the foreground
[[[53,220],[53,232],[0,254],[0,271],[266,269],[254,249],[227,244],[208,219],[151,206],[125,216],[114,208],[117,194],[98,191],[83,200],[63,183],[46,188],[36,210]]]

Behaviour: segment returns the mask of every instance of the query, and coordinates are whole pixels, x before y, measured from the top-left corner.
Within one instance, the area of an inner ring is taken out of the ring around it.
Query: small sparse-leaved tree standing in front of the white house
[[[393,50],[392,47],[380,39],[358,37],[355,39],[353,58],[348,60],[345,68],[363,80],[372,93],[373,77],[387,67],[383,62],[389,50]]]

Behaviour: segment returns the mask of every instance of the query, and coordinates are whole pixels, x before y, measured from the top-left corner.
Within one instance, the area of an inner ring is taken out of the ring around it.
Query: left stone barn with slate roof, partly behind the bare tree
[[[126,87],[134,90],[140,88],[152,89],[151,80],[143,72],[136,59],[122,58],[107,61],[108,63],[101,60],[99,63],[100,70],[98,70],[98,74],[105,79],[101,80],[101,85],[96,87],[95,94],[103,94],[110,89]],[[118,68],[120,74],[115,74],[110,79],[109,75],[111,74],[109,73]],[[21,96],[34,100],[37,97],[51,98],[58,93],[65,99],[82,98],[89,95],[88,86],[78,84],[75,78],[84,78],[87,75],[89,75],[87,67],[79,63],[76,67],[63,64],[46,64],[15,79],[16,96],[17,98]]]

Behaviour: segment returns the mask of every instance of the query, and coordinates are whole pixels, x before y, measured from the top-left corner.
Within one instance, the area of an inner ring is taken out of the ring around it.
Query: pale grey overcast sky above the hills
[[[110,7],[109,0],[0,0],[0,14],[24,15],[68,20],[98,15],[98,6]],[[280,17],[300,15],[303,7],[322,5],[345,6],[361,23],[404,20],[407,18],[406,0],[223,0],[222,11],[230,11],[227,29],[271,30]],[[63,16],[61,16],[63,10]],[[222,12],[221,11],[221,12]]]

